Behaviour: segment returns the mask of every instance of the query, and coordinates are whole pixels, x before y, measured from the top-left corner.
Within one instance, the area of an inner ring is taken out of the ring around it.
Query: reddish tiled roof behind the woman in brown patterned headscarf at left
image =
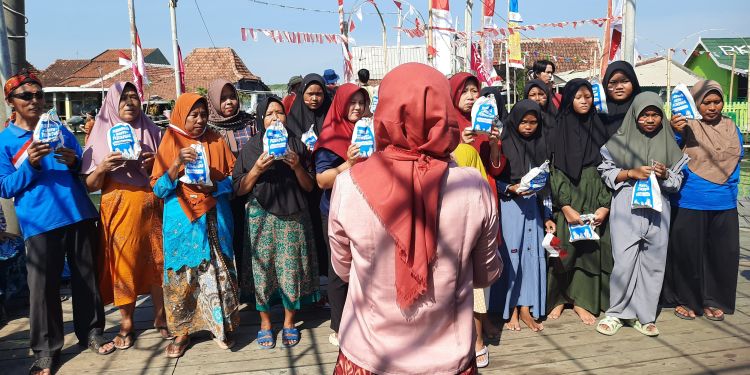
[[[260,81],[260,77],[251,73],[231,48],[196,48],[185,57],[187,91],[208,88],[208,84],[217,78],[231,82],[243,79]]]

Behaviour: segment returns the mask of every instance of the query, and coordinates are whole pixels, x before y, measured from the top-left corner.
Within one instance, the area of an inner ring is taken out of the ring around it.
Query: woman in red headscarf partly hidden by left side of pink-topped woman
[[[331,109],[323,122],[318,142],[315,144],[313,158],[315,160],[315,179],[318,187],[323,189],[320,198],[320,215],[323,219],[323,233],[328,234],[328,207],[331,201],[333,182],[336,176],[351,168],[359,161],[359,147],[352,144],[354,124],[369,114],[370,95],[367,91],[353,83],[341,85],[336,92]],[[328,240],[325,241],[326,248]],[[322,249],[321,249],[322,250]],[[326,251],[329,256],[330,251]],[[346,302],[347,285],[328,268],[328,301],[331,304],[331,329],[333,333],[328,341],[338,345],[339,323],[341,313]]]

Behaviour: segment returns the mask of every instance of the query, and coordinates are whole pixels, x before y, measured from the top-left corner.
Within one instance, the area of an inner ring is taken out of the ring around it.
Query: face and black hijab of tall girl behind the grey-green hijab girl
[[[611,137],[622,125],[635,96],[641,93],[641,85],[630,63],[615,61],[607,67],[602,86],[607,93],[608,113],[599,116],[607,128],[607,137]]]

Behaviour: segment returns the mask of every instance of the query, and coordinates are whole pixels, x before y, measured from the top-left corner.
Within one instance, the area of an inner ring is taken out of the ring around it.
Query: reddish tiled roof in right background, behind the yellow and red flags
[[[504,61],[504,51],[502,42],[495,42],[495,64]],[[521,39],[521,51],[526,67],[531,67],[536,60],[546,59],[555,63],[558,72],[591,69],[594,58],[600,54],[599,39],[582,37]]]

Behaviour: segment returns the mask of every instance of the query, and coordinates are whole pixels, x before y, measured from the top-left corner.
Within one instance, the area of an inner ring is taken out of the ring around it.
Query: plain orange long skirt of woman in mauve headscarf
[[[134,303],[162,285],[163,203],[148,187],[106,180],[99,234],[99,291],[105,305]]]

